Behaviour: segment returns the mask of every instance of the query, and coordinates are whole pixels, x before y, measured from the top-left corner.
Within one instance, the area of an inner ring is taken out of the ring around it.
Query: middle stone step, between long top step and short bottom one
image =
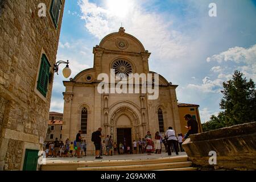
[[[159,163],[159,164],[144,164],[131,166],[108,166],[108,167],[82,167],[77,168],[77,171],[151,171],[159,169],[172,168],[187,168],[191,167],[191,162],[177,162],[177,163]]]

